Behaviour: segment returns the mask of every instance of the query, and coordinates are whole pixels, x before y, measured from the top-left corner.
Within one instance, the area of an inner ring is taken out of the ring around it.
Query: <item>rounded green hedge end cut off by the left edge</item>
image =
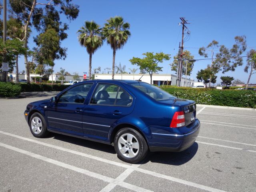
[[[22,92],[21,87],[11,82],[0,82],[1,97],[15,97]]]

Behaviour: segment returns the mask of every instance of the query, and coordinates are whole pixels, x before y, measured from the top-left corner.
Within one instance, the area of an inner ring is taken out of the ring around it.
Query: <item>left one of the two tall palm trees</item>
[[[103,37],[101,28],[94,21],[84,22],[84,26],[78,30],[78,41],[81,46],[86,47],[89,58],[89,78],[91,79],[92,73],[92,54],[100,48],[103,44]]]

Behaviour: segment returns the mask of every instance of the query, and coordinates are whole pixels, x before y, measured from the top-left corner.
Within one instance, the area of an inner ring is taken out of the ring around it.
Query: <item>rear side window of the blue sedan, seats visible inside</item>
[[[90,104],[130,106],[132,97],[117,85],[98,84]]]

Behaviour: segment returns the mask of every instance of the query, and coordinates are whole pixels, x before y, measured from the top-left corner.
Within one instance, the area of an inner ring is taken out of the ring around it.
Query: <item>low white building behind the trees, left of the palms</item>
[[[15,73],[9,73],[8,76],[12,79],[13,82],[15,82],[16,79],[16,74]],[[44,82],[44,81],[60,81],[58,78],[61,76],[61,74],[57,74],[54,73],[52,74],[52,76],[49,77],[43,77],[42,75],[39,74],[33,74],[30,73],[30,82]],[[70,80],[74,81],[74,75],[64,75],[64,82],[69,82]],[[27,79],[27,75],[26,74],[19,74],[19,79]],[[79,78],[77,80],[83,80],[84,77],[83,76],[79,76]],[[88,78],[86,78],[86,80],[88,80]]]

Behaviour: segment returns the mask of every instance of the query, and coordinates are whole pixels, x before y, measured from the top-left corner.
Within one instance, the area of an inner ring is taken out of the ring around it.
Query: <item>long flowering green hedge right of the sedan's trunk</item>
[[[160,88],[178,98],[194,100],[197,104],[256,107],[256,91],[253,90],[218,90],[174,86]]]

